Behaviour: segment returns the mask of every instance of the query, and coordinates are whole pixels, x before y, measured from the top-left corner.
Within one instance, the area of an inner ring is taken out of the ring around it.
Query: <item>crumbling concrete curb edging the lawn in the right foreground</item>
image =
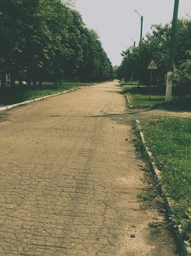
[[[140,134],[142,143],[145,146],[145,150],[146,150],[146,152],[148,154],[148,157],[149,157],[149,164],[150,164],[151,171],[153,172],[153,174],[157,177],[157,180],[159,181],[160,193],[161,193],[162,197],[165,199],[165,206],[166,206],[167,215],[168,215],[169,221],[171,221],[172,216],[173,216],[173,211],[171,209],[171,201],[166,196],[165,188],[161,183],[161,176],[160,176],[161,172],[159,171],[159,169],[157,169],[156,163],[153,162],[152,153],[149,151],[149,148],[145,145],[145,137],[144,137],[143,132],[141,131],[141,125],[140,125],[139,120],[136,120],[136,125],[137,125],[137,128],[139,129],[139,134]],[[190,243],[188,241],[182,241],[181,227],[180,226],[173,226],[173,228],[174,228],[175,238],[177,240],[177,245],[178,245],[179,249],[181,250],[182,255],[183,256],[190,256],[191,255],[191,246],[190,246]]]

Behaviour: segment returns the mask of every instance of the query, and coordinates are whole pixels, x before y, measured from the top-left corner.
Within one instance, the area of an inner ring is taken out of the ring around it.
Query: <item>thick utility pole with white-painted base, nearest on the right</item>
[[[171,96],[172,96],[172,75],[173,75],[173,63],[174,63],[174,49],[175,49],[176,32],[177,32],[178,6],[179,6],[179,0],[175,0],[172,29],[171,29],[171,46],[170,46],[169,63],[168,63],[165,102],[170,102]]]

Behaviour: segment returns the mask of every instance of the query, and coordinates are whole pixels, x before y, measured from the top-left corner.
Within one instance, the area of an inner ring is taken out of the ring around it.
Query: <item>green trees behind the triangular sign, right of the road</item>
[[[154,71],[153,84],[166,86],[171,24],[152,25],[152,33],[147,33],[138,47],[130,47],[122,52],[123,60],[117,75],[125,81],[138,79],[144,85],[149,85],[150,72],[147,70],[150,61],[154,59],[159,67]],[[174,93],[191,96],[191,17],[182,17],[177,23],[176,49],[174,56]]]

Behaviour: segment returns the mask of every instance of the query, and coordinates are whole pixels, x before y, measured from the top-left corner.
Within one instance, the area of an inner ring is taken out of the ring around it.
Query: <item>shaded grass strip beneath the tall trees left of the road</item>
[[[8,84],[5,92],[0,93],[0,107],[40,98],[46,95],[60,93],[64,90],[72,90],[79,86],[90,86],[93,84],[95,83],[63,82],[62,85],[58,84],[55,86],[45,86],[43,89],[36,90],[19,90],[18,87],[15,87],[14,90],[11,90]]]

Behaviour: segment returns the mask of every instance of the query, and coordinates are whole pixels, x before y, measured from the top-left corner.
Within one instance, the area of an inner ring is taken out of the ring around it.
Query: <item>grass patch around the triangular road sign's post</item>
[[[123,93],[127,94],[130,99],[132,108],[159,108],[159,109],[191,109],[191,98],[180,99],[173,97],[171,102],[165,102],[165,88],[151,87],[149,100],[149,87],[135,85],[122,85]]]

